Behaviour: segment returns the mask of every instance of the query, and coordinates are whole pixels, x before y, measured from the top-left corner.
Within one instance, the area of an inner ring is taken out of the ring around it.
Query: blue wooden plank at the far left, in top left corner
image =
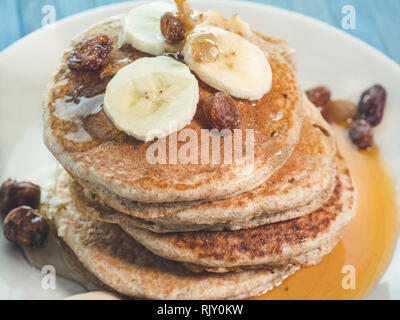
[[[15,0],[1,1],[0,21],[0,50],[3,50],[22,36]]]

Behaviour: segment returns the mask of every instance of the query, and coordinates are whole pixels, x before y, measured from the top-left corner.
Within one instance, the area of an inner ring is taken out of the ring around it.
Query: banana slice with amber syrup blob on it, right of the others
[[[236,98],[258,100],[271,90],[266,55],[236,33],[199,24],[183,48],[185,63],[205,83]]]

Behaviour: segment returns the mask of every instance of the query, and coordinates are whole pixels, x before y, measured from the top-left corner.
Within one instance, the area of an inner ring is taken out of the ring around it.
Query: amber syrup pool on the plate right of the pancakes
[[[395,183],[384,170],[378,147],[359,152],[347,130],[334,130],[358,191],[357,216],[320,265],[301,269],[257,300],[362,299],[390,263],[399,231]],[[342,269],[347,265],[356,270],[355,290],[342,288]]]

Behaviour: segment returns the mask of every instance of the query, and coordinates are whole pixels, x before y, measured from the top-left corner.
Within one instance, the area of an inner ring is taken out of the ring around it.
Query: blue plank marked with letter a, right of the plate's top
[[[386,2],[386,1],[385,1]],[[356,10],[356,29],[344,30],[351,35],[354,35],[361,40],[366,41],[378,50],[388,53],[387,49],[377,32],[374,12],[366,5],[365,0],[335,0],[327,1],[328,7],[334,17],[336,27],[342,29],[342,20],[345,14],[342,13],[342,8],[346,5],[352,5]]]

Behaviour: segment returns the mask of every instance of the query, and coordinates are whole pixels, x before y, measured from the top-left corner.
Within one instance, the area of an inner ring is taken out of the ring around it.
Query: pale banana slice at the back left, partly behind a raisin
[[[176,6],[166,2],[152,2],[133,8],[122,19],[118,45],[130,44],[135,49],[154,56],[176,52],[178,46],[165,42],[161,33],[161,17],[166,12],[176,12]]]

